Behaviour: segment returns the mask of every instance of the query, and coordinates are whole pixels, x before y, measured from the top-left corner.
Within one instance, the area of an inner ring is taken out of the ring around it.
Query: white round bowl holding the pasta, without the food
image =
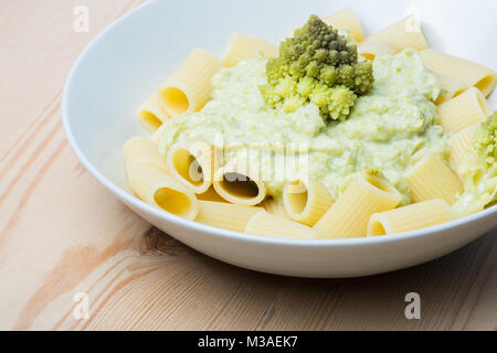
[[[135,110],[192,49],[221,54],[234,31],[277,43],[309,14],[326,15],[349,4],[369,33],[400,20],[408,9],[421,15],[432,46],[497,68],[493,0],[151,1],[105,30],[74,65],[62,101],[74,152],[105,188],[158,228],[203,254],[253,270],[320,278],[367,276],[429,261],[475,240],[497,226],[497,207],[409,234],[309,242],[205,226],[129,193],[121,147],[129,137],[145,135]]]

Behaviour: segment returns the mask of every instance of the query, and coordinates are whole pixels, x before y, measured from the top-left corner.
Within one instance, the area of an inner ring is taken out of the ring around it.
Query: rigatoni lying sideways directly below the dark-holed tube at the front
[[[224,202],[199,201],[199,215],[195,221],[213,227],[244,232],[248,220],[260,211],[262,211],[261,207],[240,206]]]

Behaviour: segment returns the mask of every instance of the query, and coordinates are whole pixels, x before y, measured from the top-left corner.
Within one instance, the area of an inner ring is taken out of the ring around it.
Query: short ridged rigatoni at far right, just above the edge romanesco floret
[[[470,87],[462,95],[437,107],[440,125],[446,133],[457,133],[490,115],[490,107],[482,92]]]

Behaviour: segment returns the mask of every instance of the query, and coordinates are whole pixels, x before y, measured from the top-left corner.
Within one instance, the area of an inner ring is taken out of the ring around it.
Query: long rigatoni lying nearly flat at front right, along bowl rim
[[[368,236],[401,234],[453,220],[444,200],[430,200],[392,211],[376,213],[368,225]]]

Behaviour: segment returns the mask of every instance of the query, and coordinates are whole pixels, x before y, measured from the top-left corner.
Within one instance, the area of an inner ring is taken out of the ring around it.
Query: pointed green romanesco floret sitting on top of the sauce
[[[357,45],[317,15],[281,44],[266,76],[261,93],[268,105],[293,113],[313,103],[325,121],[347,119],[374,82],[371,62],[359,62]]]

